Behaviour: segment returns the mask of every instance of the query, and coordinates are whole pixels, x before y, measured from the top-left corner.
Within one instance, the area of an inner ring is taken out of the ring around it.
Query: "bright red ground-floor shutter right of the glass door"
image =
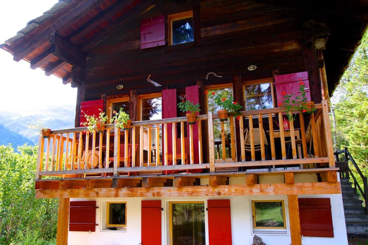
[[[231,245],[230,200],[208,200],[209,244]]]

